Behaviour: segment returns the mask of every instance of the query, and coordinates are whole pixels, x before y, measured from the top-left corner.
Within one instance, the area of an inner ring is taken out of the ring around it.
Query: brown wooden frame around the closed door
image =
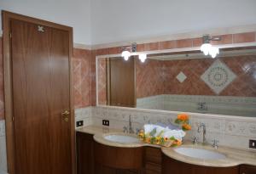
[[[6,126],[7,164],[9,174],[15,174],[15,135],[13,121],[13,93],[12,93],[12,57],[10,41],[10,21],[20,20],[37,25],[44,25],[51,28],[67,31],[69,35],[69,94],[70,94],[70,124],[71,124],[71,150],[72,150],[72,173],[75,174],[75,129],[74,129],[74,107],[73,107],[73,28],[66,25],[55,24],[46,20],[38,20],[21,14],[9,11],[2,11],[3,21],[3,82],[4,82],[4,115]]]

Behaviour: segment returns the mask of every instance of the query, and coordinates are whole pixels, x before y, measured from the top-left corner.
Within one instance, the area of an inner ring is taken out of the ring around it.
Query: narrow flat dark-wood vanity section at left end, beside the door
[[[77,132],[77,173],[94,174],[93,135]]]

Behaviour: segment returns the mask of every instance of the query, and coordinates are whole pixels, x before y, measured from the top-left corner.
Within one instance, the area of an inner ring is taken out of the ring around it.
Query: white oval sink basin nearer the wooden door
[[[131,137],[129,135],[107,135],[104,137],[108,141],[116,143],[139,143],[139,139],[136,137]]]

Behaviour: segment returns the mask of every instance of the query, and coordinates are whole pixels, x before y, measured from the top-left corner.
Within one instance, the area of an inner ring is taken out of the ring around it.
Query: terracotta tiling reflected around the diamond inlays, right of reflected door
[[[220,93],[202,81],[201,76],[217,59],[183,59],[164,61],[165,94],[256,96],[256,55],[219,58],[236,75]],[[183,72],[187,78],[180,82],[177,75]]]

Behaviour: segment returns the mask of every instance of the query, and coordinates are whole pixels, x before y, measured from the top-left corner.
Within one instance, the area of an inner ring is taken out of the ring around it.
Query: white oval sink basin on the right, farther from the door
[[[185,156],[202,160],[221,160],[226,158],[224,154],[213,152],[207,149],[177,148],[174,149],[174,151],[176,151],[178,154],[183,154]]]

